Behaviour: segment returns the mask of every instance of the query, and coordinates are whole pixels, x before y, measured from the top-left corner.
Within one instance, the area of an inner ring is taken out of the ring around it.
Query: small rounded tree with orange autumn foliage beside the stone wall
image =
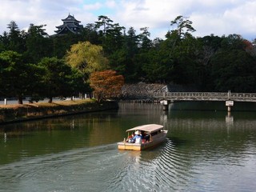
[[[96,71],[90,74],[90,86],[98,98],[98,102],[107,98],[118,97],[124,84],[122,75],[114,70]]]

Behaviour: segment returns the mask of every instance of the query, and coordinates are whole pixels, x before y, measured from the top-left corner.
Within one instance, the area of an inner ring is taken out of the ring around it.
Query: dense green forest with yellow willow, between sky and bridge
[[[48,35],[45,25],[20,30],[11,21],[0,35],[0,98],[66,97],[92,90],[90,75],[113,70],[125,83],[193,86],[198,91],[255,92],[256,46],[239,34],[194,37],[178,16],[165,39],[150,29],[126,29],[106,16],[80,34]]]

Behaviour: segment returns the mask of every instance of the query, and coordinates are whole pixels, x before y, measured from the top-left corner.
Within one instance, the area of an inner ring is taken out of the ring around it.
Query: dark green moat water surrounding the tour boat
[[[254,191],[256,112],[205,109],[216,105],[174,103],[164,112],[121,103],[0,126],[0,191]],[[126,129],[146,123],[164,125],[166,142],[117,150]]]

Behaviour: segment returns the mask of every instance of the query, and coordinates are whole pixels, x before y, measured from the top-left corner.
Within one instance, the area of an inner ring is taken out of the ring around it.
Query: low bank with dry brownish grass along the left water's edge
[[[118,109],[118,104],[92,99],[0,105],[0,124],[111,109]]]

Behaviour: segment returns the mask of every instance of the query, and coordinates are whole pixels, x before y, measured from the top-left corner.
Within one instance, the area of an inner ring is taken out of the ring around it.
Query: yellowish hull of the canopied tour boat
[[[146,150],[154,146],[158,146],[160,143],[166,140],[167,131],[154,137],[151,142],[144,143],[130,143],[130,142],[118,142],[118,150]]]

